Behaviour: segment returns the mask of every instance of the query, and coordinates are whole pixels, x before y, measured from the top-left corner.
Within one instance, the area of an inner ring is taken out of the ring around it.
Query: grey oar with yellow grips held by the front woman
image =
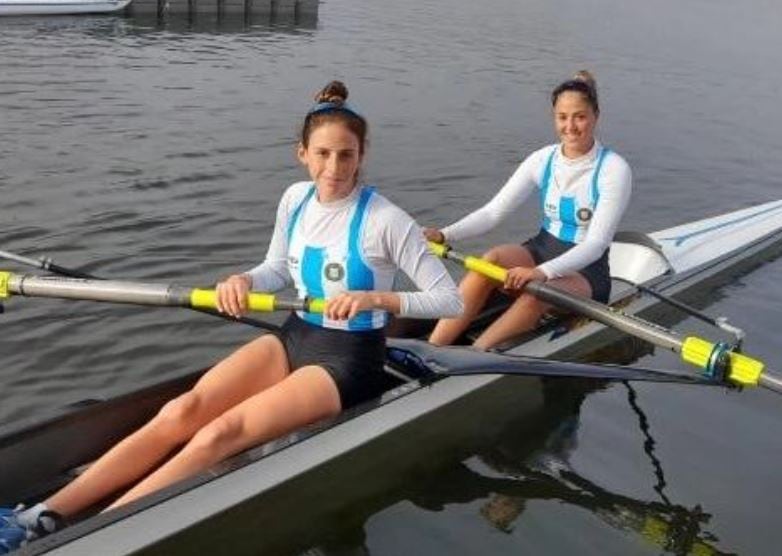
[[[175,284],[35,276],[0,271],[0,299],[11,295],[108,301],[157,307],[186,307],[199,310],[217,309],[217,292],[210,289]],[[247,296],[247,306],[250,311],[255,312],[298,310],[321,313],[325,301],[322,299],[288,300],[273,294],[252,292]]]

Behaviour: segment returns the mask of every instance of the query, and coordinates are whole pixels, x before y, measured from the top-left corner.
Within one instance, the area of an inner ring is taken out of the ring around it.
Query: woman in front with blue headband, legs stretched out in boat
[[[130,487],[111,507],[378,396],[389,314],[461,312],[418,225],[359,181],[367,122],[347,98],[339,81],[317,95],[297,147],[310,180],[283,194],[264,262],[217,285],[229,315],[246,312],[250,290],[288,286],[301,298],[325,298],[323,314],[292,313],[279,333],[239,348],[46,501],[0,509],[0,553],[123,489]],[[391,291],[398,270],[420,291]]]

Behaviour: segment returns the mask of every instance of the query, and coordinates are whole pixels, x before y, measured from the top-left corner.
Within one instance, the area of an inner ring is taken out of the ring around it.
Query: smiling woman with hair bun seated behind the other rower
[[[508,268],[504,284],[469,272],[459,286],[462,316],[441,320],[430,341],[451,344],[464,332],[492,291],[515,296],[511,306],[474,345],[489,349],[536,326],[549,306],[524,293],[530,280],[608,301],[611,276],[608,249],[632,188],[627,162],[595,137],[600,116],[597,87],[587,71],[551,93],[559,143],[535,151],[522,162],[491,201],[442,230],[428,228],[427,239],[453,242],[488,232],[515,213],[537,188],[543,221],[539,233],[523,244],[493,247],[484,258]]]

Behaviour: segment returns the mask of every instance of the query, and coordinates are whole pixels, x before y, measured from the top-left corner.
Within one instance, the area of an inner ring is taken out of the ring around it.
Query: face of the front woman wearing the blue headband
[[[310,133],[309,145],[299,145],[298,156],[321,201],[342,199],[353,191],[361,167],[361,145],[345,125],[328,122],[318,126]]]

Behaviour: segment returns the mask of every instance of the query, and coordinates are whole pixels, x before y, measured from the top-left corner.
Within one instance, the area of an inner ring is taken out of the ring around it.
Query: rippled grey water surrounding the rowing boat
[[[422,223],[476,207],[551,142],[548,94],[580,68],[598,79],[602,139],[633,167],[625,228],[780,197],[782,11],[770,0],[331,0],[311,17],[265,21],[0,27],[0,249],[105,276],[209,284],[255,264],[279,195],[304,175],[299,118],[335,77],[371,122],[368,180]],[[524,237],[536,217],[528,207],[462,247]],[[770,262],[710,307],[772,365],[780,270]],[[253,334],[183,311],[32,299],[11,300],[2,319],[6,420],[201,366]],[[427,456],[431,468],[394,471],[369,502],[313,507],[275,550],[679,554],[688,523],[715,553],[774,552],[780,400],[635,390],[654,458],[616,385],[575,404],[572,419],[514,423],[466,453]]]

